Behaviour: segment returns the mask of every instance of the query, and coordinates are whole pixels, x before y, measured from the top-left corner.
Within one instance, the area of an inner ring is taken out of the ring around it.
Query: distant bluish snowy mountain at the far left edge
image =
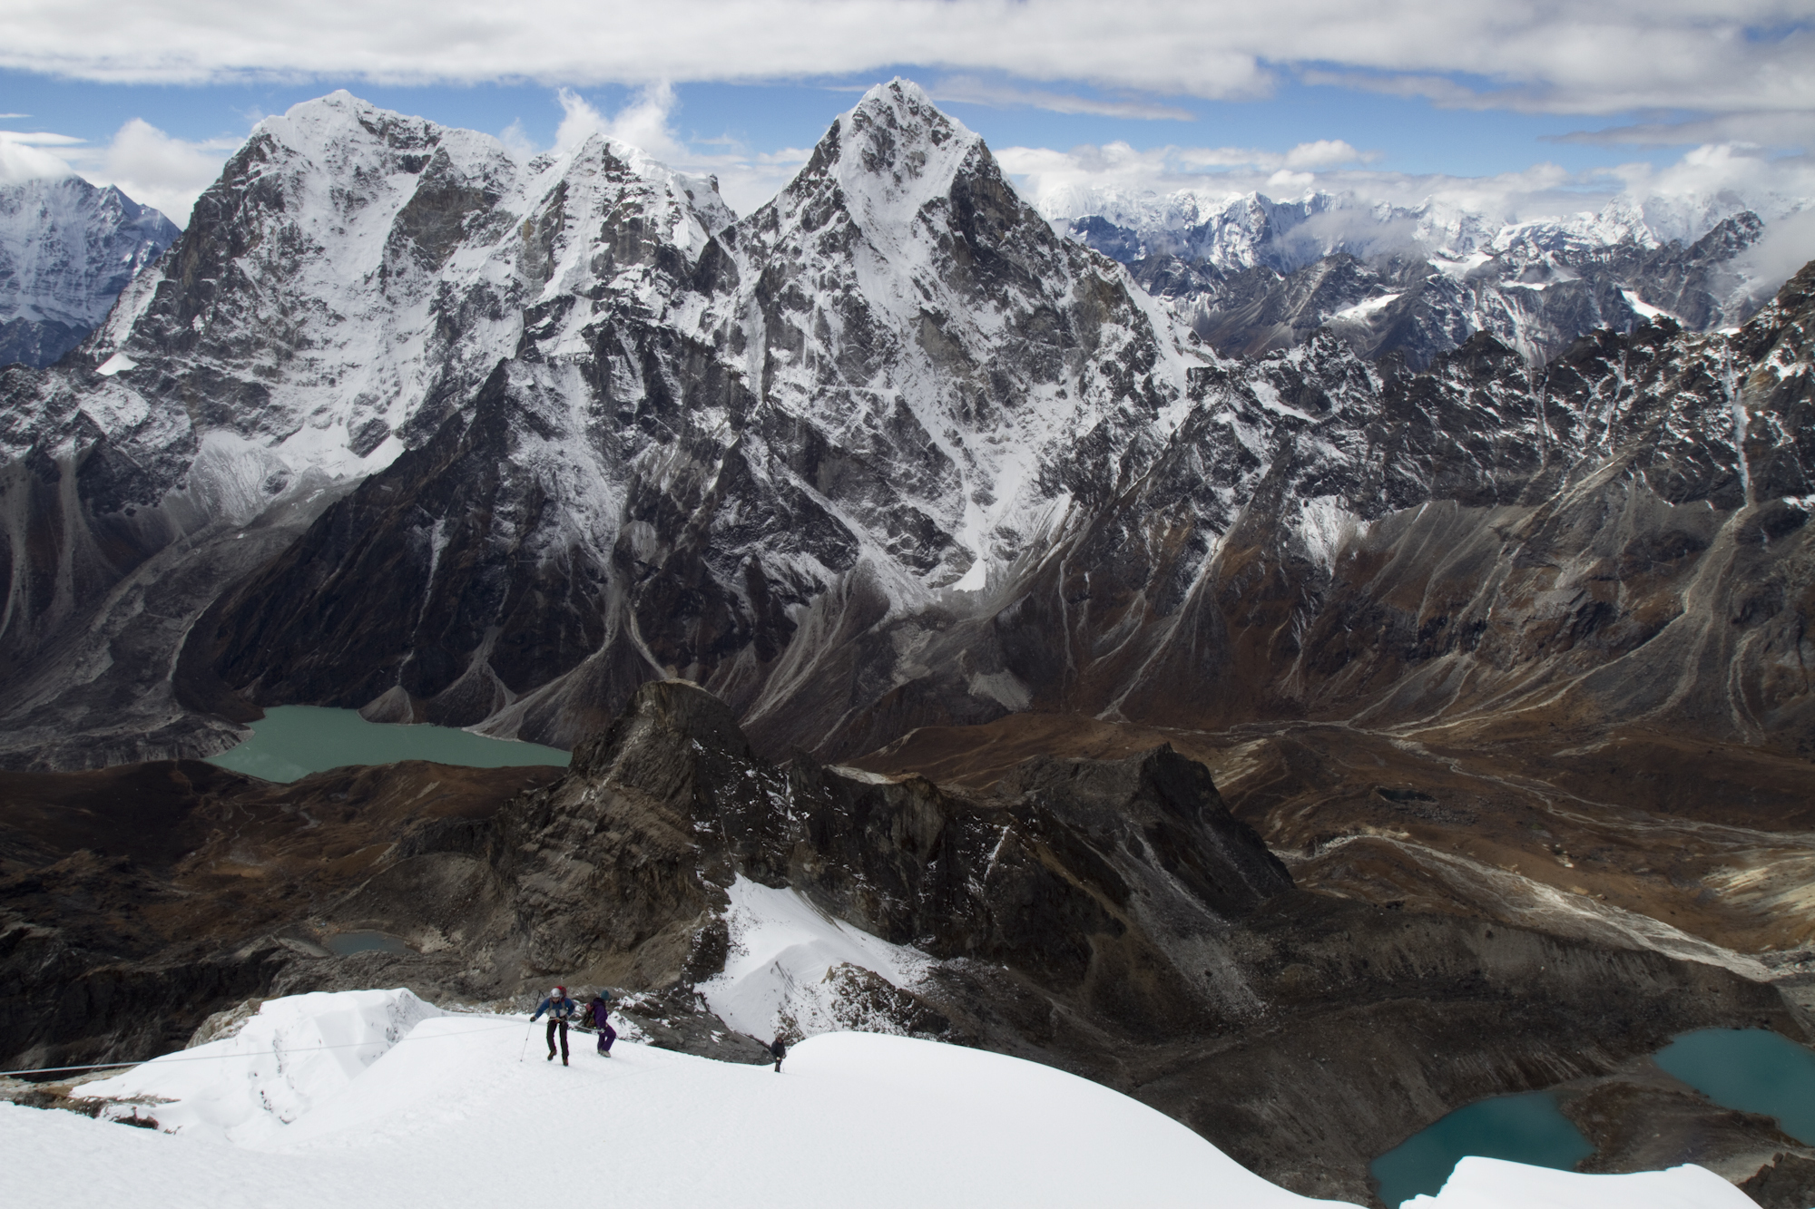
[[[51,365],[80,345],[180,234],[114,185],[0,185],[0,365]]]

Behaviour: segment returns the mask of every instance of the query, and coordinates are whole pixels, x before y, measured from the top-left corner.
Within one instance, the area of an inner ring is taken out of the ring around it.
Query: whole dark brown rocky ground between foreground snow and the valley
[[[915,978],[835,966],[800,988],[826,1024],[1089,1075],[1314,1194],[1367,1200],[1367,1162],[1450,1107],[1606,1076],[1673,1031],[1799,1035],[1773,988],[1713,964],[1296,890],[1167,748],[958,791],[766,761],[715,697],[652,683],[550,775],[0,775],[20,804],[0,826],[9,1062],[138,1057],[243,997],[488,1002],[550,978],[628,991],[664,1044],[760,1060],[699,998],[739,880],[924,955]],[[530,788],[499,804],[512,779]],[[138,810],[103,804],[127,786]],[[330,957],[363,928],[410,948]]]

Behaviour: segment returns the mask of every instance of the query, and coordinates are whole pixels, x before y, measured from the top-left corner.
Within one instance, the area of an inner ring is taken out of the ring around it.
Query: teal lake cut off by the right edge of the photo
[[[1764,1029],[1699,1029],[1657,1051],[1657,1066],[1721,1107],[1775,1116],[1815,1140],[1815,1053]]]

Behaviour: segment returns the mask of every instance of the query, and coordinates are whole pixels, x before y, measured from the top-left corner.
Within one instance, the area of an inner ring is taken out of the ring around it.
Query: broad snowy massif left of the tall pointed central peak
[[[526,309],[570,300],[537,336],[572,349],[597,300],[672,294],[726,221],[710,182],[623,143],[523,163],[334,93],[258,125],[198,200],[183,267],[142,276],[89,354],[218,432],[249,481],[363,476],[470,403]]]

